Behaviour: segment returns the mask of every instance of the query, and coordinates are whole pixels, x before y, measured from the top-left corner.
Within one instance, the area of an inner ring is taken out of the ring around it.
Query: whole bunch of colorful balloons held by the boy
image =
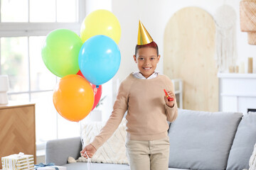
[[[102,84],[114,77],[121,55],[121,27],[107,10],[90,13],[82,21],[80,37],[71,30],[53,30],[46,36],[41,55],[58,77],[53,103],[63,118],[78,122],[100,101]]]

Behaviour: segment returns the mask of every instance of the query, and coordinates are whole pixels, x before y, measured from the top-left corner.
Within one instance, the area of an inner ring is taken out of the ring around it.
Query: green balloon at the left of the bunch
[[[50,32],[43,44],[41,55],[46,67],[58,77],[77,74],[81,38],[72,30],[58,29]]]

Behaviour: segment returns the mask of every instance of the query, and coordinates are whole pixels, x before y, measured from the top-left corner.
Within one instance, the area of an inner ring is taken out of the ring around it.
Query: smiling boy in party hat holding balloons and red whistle
[[[171,80],[154,72],[160,60],[158,47],[139,21],[138,44],[134,62],[139,72],[129,74],[119,86],[112,115],[100,135],[82,150],[92,157],[96,150],[112,136],[127,111],[127,157],[132,170],[166,170],[169,164],[169,128],[173,122],[177,103]],[[174,100],[169,101],[165,94]]]

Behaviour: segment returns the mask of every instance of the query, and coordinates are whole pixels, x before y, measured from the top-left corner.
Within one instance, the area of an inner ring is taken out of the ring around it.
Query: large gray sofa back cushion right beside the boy
[[[242,113],[178,110],[171,123],[170,168],[225,169]]]

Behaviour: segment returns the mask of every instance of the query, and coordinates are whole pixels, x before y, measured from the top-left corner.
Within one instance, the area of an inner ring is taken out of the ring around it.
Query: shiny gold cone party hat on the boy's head
[[[152,42],[153,39],[147,32],[146,28],[143,26],[142,22],[139,21],[139,31],[138,31],[138,42],[137,45],[146,45]]]

